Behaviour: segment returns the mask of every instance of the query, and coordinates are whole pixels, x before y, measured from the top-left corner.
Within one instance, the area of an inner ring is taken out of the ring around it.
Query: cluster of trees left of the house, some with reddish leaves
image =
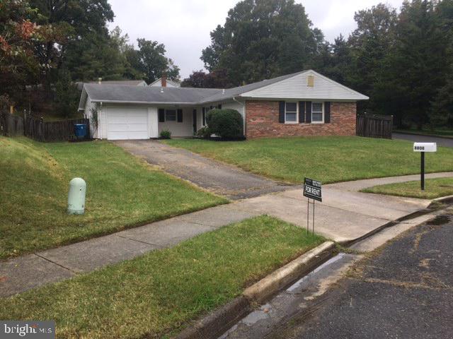
[[[113,17],[108,0],[0,0],[0,108],[69,117],[76,81],[180,78],[164,44],[138,39],[135,48],[108,30]]]

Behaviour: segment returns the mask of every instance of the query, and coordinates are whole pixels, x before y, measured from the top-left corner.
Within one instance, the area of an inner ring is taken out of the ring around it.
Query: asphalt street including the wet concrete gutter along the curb
[[[377,249],[340,253],[220,338],[453,338],[452,239],[450,208]]]

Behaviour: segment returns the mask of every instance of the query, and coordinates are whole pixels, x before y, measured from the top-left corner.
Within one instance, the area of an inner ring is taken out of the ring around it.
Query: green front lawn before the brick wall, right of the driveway
[[[420,171],[420,154],[413,152],[413,143],[408,141],[330,136],[230,142],[173,139],[165,143],[299,184],[304,177],[331,183]],[[427,172],[453,171],[453,148],[440,147],[426,157]]]

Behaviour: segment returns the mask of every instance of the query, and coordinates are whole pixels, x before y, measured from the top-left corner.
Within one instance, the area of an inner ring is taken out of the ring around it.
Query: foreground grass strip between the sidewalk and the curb
[[[0,319],[54,319],[57,338],[162,338],[321,242],[287,222],[252,218],[0,299]]]

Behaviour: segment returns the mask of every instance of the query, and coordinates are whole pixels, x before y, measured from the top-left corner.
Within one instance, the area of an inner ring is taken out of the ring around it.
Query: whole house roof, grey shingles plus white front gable
[[[315,77],[314,87],[307,86],[307,76]],[[116,85],[107,82],[85,83],[79,109],[84,100],[135,104],[202,105],[232,100],[234,97],[306,100],[368,100],[362,95],[326,76],[313,71],[300,71],[235,88],[180,88]]]

